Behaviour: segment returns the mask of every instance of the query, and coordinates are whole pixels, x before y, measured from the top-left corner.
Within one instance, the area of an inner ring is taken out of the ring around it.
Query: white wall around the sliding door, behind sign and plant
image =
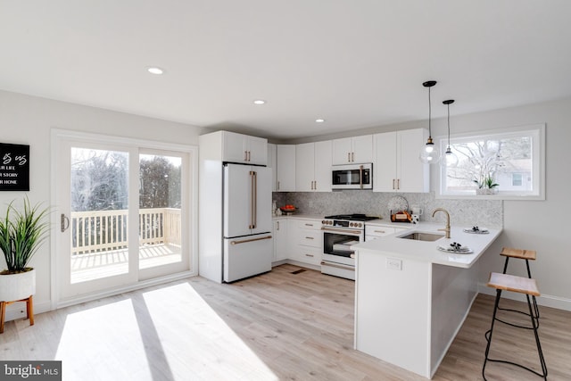
[[[29,145],[30,149],[30,191],[0,192],[0,215],[5,212],[7,203],[24,195],[29,196],[31,203],[49,205],[54,180],[50,174],[51,128],[183,145],[198,145],[201,133],[200,128],[180,123],[0,91],[0,143]],[[53,226],[57,227],[55,217]],[[46,311],[51,303],[50,244],[47,241],[31,261],[31,266],[37,269],[34,297],[37,312]],[[0,269],[5,269],[4,256],[0,258]]]

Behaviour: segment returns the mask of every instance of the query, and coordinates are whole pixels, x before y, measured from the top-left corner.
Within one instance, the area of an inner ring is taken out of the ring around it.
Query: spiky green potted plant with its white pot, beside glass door
[[[48,214],[49,208],[42,209],[39,203],[32,206],[28,197],[23,211],[13,201],[8,204],[0,219],[0,248],[8,268],[0,272],[0,301],[20,301],[36,294],[36,270],[29,261],[48,236]]]

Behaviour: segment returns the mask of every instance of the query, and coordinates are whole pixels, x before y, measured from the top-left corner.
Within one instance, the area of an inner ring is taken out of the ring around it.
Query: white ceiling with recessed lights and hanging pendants
[[[426,120],[429,79],[433,117],[567,97],[570,17],[569,0],[0,0],[0,89],[310,137]]]

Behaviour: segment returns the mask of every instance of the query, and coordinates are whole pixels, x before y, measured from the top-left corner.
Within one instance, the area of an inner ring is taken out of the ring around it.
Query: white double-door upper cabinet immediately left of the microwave
[[[295,148],[295,190],[331,191],[331,141],[304,143]]]

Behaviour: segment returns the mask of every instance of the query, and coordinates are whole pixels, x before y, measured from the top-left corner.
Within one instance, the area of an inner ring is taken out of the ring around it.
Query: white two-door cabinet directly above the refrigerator
[[[268,140],[223,131],[223,161],[267,165]]]

